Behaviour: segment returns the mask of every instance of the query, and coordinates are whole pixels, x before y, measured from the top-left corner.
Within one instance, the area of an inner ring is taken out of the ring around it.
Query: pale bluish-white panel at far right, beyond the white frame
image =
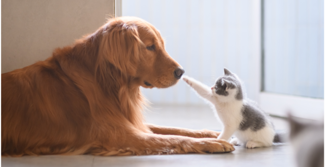
[[[265,0],[265,91],[324,99],[324,0]]]

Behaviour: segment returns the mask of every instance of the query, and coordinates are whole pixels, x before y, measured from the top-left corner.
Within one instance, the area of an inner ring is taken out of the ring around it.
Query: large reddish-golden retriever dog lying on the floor
[[[230,152],[219,132],[145,124],[140,86],[164,88],[184,70],[159,31],[119,17],[44,61],[1,75],[1,155]]]

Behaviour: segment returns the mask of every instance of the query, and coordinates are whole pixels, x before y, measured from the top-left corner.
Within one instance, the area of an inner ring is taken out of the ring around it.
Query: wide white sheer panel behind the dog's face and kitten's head
[[[256,0],[255,0],[256,1]],[[227,67],[257,100],[259,15],[254,0],[123,0],[123,16],[140,17],[160,30],[166,51],[185,75],[212,85]],[[255,27],[254,27],[254,26]],[[167,89],[143,89],[154,104],[204,104],[183,81]]]

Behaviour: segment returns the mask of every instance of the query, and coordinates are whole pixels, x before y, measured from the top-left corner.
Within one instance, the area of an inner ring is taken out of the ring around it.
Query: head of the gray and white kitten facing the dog
[[[215,85],[211,87],[212,94],[224,102],[233,99],[242,100],[243,95],[240,82],[229,70],[226,68],[224,70],[225,75],[218,78]]]

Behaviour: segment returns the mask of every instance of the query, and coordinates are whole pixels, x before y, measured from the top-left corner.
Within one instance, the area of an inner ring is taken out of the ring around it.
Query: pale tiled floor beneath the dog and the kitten
[[[208,107],[153,106],[146,111],[148,123],[191,129],[221,130],[221,124]],[[277,130],[287,130],[285,121],[276,118]],[[247,149],[235,146],[226,154],[182,154],[100,157],[80,156],[24,156],[1,157],[2,167],[294,167],[292,150],[288,144],[267,148]]]

